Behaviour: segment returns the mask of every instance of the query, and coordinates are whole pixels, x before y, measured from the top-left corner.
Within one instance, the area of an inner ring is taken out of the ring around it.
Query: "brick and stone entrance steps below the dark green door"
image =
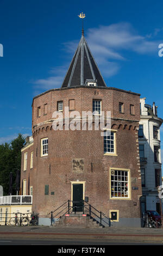
[[[72,212],[53,223],[54,227],[78,227],[78,228],[104,228],[105,226],[83,212]]]

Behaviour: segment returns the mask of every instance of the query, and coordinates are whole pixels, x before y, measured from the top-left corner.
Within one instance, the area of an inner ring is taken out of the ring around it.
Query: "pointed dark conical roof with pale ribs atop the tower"
[[[106,87],[82,31],[82,38],[61,87],[86,86],[87,82],[94,82],[98,87]]]

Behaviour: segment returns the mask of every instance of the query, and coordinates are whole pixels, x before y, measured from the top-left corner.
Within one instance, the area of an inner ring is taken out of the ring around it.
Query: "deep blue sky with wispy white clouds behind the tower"
[[[143,0],[1,0],[0,144],[19,132],[31,135],[32,99],[61,86],[81,37],[82,11],[85,37],[107,86],[155,101],[163,118],[162,8],[161,1]]]

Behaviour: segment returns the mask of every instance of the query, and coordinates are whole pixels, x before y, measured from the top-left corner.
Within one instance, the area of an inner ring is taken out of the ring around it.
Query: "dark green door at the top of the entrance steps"
[[[73,184],[73,211],[83,211],[83,184]]]

